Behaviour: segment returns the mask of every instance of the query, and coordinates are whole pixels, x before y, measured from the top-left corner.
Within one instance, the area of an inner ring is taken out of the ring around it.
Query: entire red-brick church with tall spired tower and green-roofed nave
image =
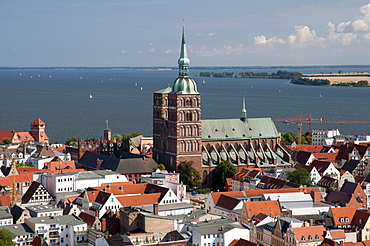
[[[189,76],[189,65],[183,28],[179,75],[172,87],[154,93],[153,159],[170,171],[183,161],[193,161],[206,186],[222,161],[237,170],[290,167],[291,155],[281,146],[274,122],[248,118],[244,98],[240,118],[201,119],[201,94]]]

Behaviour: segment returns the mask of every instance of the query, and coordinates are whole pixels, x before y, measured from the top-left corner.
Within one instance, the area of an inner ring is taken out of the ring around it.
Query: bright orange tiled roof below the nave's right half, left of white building
[[[245,209],[249,218],[253,215],[264,213],[271,217],[277,217],[281,215],[281,207],[279,201],[254,201],[245,202]]]

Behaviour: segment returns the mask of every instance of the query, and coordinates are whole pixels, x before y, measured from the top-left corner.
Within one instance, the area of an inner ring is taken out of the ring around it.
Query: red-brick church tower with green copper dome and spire
[[[153,158],[169,170],[177,170],[182,161],[193,161],[202,168],[201,108],[197,84],[189,77],[190,60],[182,30],[179,76],[172,88],[154,93]]]

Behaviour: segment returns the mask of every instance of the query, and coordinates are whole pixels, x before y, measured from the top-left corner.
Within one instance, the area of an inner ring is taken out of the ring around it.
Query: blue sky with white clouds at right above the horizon
[[[0,67],[368,65],[370,1],[1,0]]]

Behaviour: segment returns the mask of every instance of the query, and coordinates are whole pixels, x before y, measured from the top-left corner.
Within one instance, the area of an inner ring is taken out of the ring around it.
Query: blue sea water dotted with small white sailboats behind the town
[[[356,72],[369,68],[285,70]],[[244,71],[277,69],[234,72]],[[327,121],[370,121],[370,88],[302,86],[274,79],[200,78],[196,77],[199,72],[192,71],[191,77],[201,93],[203,119],[239,118],[245,96],[247,117],[251,118],[308,118],[312,114],[312,118]],[[151,136],[153,93],[171,86],[176,78],[176,69],[0,69],[0,129],[27,131],[35,118],[41,118],[50,141],[64,143],[71,136],[102,138],[108,120],[113,134],[140,131]],[[276,122],[276,126],[282,132],[297,132],[296,123]],[[342,134],[370,133],[369,124],[312,127],[338,128]],[[303,124],[303,132],[307,130],[308,125]]]

